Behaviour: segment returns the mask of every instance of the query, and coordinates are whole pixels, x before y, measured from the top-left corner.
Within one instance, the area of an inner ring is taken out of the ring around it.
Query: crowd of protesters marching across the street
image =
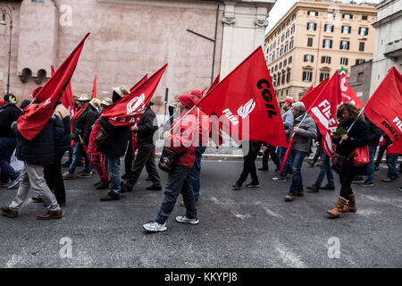
[[[14,189],[19,186],[16,197],[9,206],[2,206],[4,215],[15,218],[21,206],[28,198],[29,189],[35,191],[32,198],[46,206],[46,214],[39,214],[38,219],[49,220],[63,217],[63,206],[67,203],[63,180],[91,177],[96,170],[99,181],[96,189],[109,189],[101,201],[121,199],[122,192],[135,189],[140,173],[146,167],[148,178],[152,185],[147,190],[162,190],[161,179],[155,164],[155,132],[159,127],[155,120],[154,103],[151,101],[142,114],[138,123],[132,126],[114,126],[100,115],[116,101],[130,94],[126,86],[113,88],[111,97],[90,98],[82,94],[75,97],[77,108],[71,117],[70,112],[58,102],[54,114],[46,123],[35,139],[27,140],[18,130],[18,119],[23,110],[30,104],[38,103],[34,90],[31,100],[24,100],[18,107],[17,98],[12,94],[4,96],[0,101],[0,179],[1,187]],[[188,95],[181,95],[170,108],[171,119],[165,124],[172,127],[163,133],[165,142],[169,142],[167,149],[179,156],[174,169],[169,172],[164,187],[164,198],[155,220],[143,225],[147,231],[165,231],[166,221],[172,214],[180,194],[183,200],[180,206],[185,206],[186,214],[176,217],[179,223],[199,223],[197,206],[200,203],[201,189],[201,160],[211,134],[211,125],[205,120],[205,114],[194,108],[197,101],[203,97],[199,90],[193,90]],[[258,188],[257,170],[269,171],[268,160],[272,158],[276,169],[273,181],[290,181],[289,193],[284,198],[291,202],[295,197],[304,196],[304,181],[302,166],[312,153],[315,145],[316,153],[312,160],[308,160],[311,167],[320,159],[320,169],[314,183],[306,187],[307,192],[317,193],[320,189],[334,190],[335,180],[332,170],[333,159],[322,150],[322,134],[312,116],[306,113],[306,106],[302,102],[295,103],[292,99],[282,102],[282,115],[286,137],[292,139],[290,150],[286,147],[273,147],[264,142],[243,141],[244,151],[243,170],[232,189],[242,189],[250,174],[251,181],[247,188]],[[177,111],[177,114],[174,113]],[[191,116],[187,116],[188,113]],[[348,130],[347,134],[333,135],[333,144],[336,156],[346,158],[343,169],[339,173],[340,193],[336,206],[327,211],[331,217],[339,217],[342,212],[356,212],[356,195],[352,189],[353,183],[364,187],[374,185],[374,174],[381,164],[383,153],[391,144],[389,137],[381,133],[381,129],[370,122],[368,118],[350,104],[339,106],[337,119],[339,129]],[[207,116],[206,116],[207,117]],[[196,121],[194,121],[194,118]],[[180,122],[180,124],[176,124]],[[199,136],[198,136],[199,135]],[[362,167],[354,164],[354,150],[356,147],[368,146],[370,163]],[[378,152],[377,149],[380,146]],[[288,151],[288,152],[287,152]],[[19,172],[13,169],[12,156],[23,162]],[[62,172],[63,156],[69,153],[69,160]],[[263,165],[257,169],[256,158],[263,153]],[[375,158],[375,155],[377,157]],[[125,173],[121,175],[121,156],[125,156]],[[284,162],[286,160],[286,162]],[[386,155],[388,174],[383,182],[398,180],[401,166],[397,167],[398,154]],[[78,166],[82,171],[75,175]],[[327,184],[322,186],[325,175]],[[364,180],[363,176],[366,176]],[[398,188],[401,190],[402,188]]]

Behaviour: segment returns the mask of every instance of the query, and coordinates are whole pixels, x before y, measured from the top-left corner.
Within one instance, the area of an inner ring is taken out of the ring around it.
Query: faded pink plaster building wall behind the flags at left
[[[14,0],[10,92],[21,102],[45,84],[87,32],[91,35],[71,80],[74,95],[97,97],[132,86],[168,63],[155,102],[169,101],[221,79],[264,46],[274,0]],[[0,15],[1,16],[1,15]],[[10,19],[0,25],[0,94],[8,82]]]

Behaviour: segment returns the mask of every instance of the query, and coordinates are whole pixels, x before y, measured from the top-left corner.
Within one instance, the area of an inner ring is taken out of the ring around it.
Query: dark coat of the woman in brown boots
[[[348,121],[344,123],[340,123],[339,128],[343,128],[344,130],[348,130],[353,121]],[[370,140],[367,124],[361,120],[356,121],[355,125],[353,125],[352,129],[348,132],[348,140],[342,141],[339,144],[340,139],[333,139],[333,143],[336,145],[336,153],[342,156],[350,156],[352,152],[355,151],[356,147],[364,147],[368,145]],[[367,173],[367,165],[363,167],[355,167],[353,156],[348,160],[348,166],[346,168],[345,173],[348,176],[353,175],[365,175]]]

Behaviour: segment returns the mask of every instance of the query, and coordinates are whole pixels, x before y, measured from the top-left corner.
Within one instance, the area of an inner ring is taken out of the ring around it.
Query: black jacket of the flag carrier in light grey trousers
[[[17,134],[17,147],[15,156],[27,164],[46,165],[54,164],[54,137],[62,136],[54,129],[54,117],[51,118],[41,130],[37,137],[31,141],[24,139],[14,125]]]

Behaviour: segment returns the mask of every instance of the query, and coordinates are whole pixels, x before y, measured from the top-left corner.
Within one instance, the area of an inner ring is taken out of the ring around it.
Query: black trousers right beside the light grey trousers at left
[[[58,154],[54,157],[54,164],[48,164],[44,168],[45,180],[49,189],[54,193],[57,203],[65,203],[65,188],[62,175],[62,157]]]

